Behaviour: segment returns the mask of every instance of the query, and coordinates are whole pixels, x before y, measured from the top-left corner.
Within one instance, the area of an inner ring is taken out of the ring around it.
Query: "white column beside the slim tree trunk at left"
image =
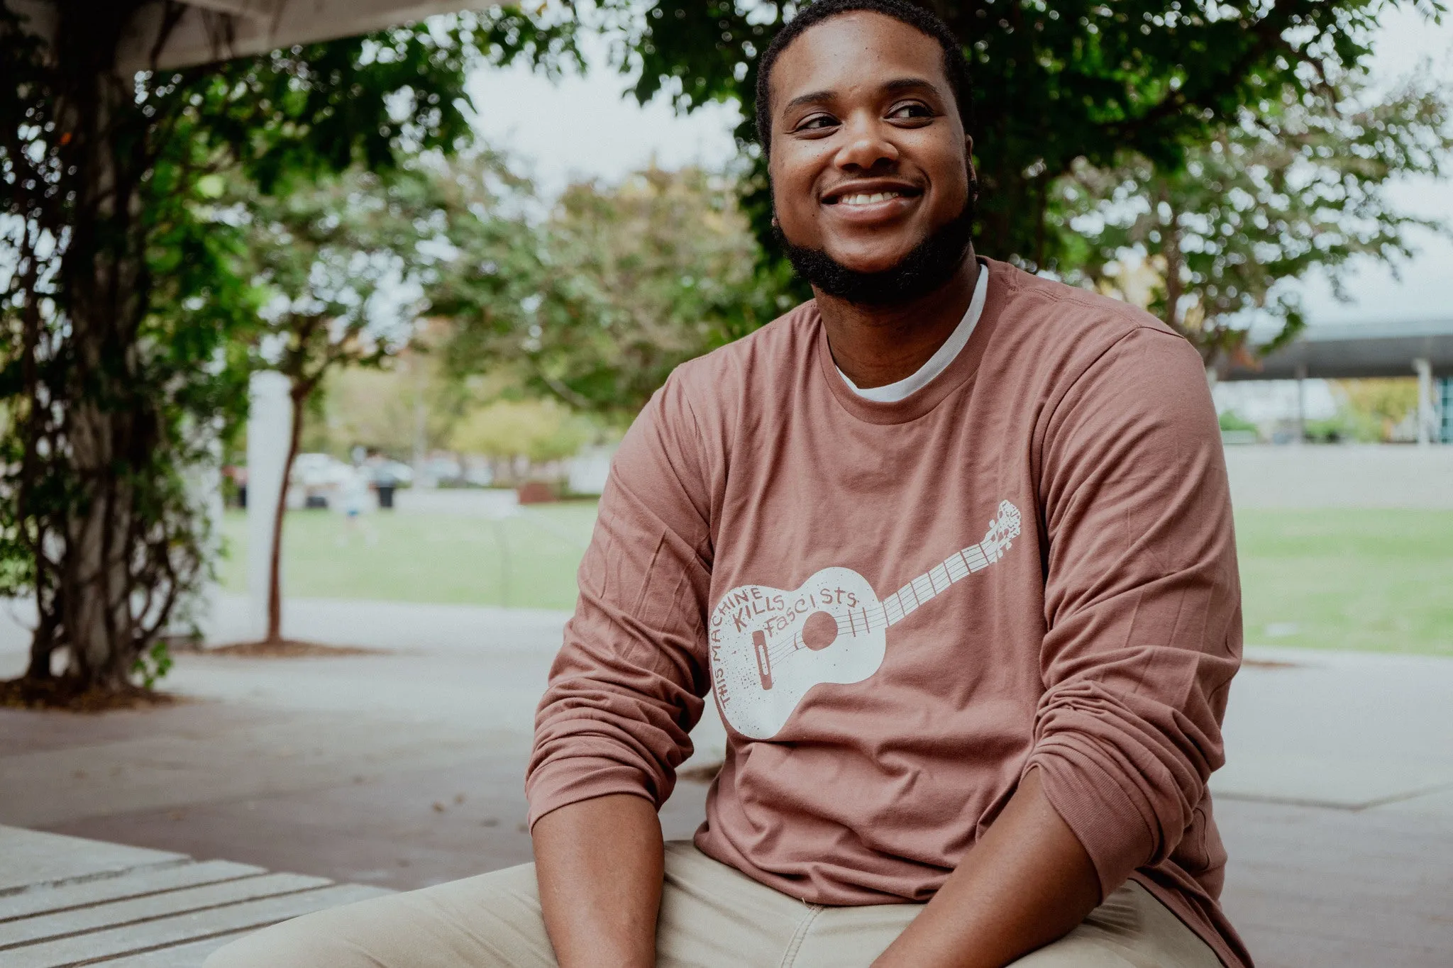
[[[282,466],[288,462],[292,431],[292,396],[288,377],[273,370],[254,373],[247,412],[247,634],[267,633],[267,579],[272,565],[273,524],[282,493]]]

